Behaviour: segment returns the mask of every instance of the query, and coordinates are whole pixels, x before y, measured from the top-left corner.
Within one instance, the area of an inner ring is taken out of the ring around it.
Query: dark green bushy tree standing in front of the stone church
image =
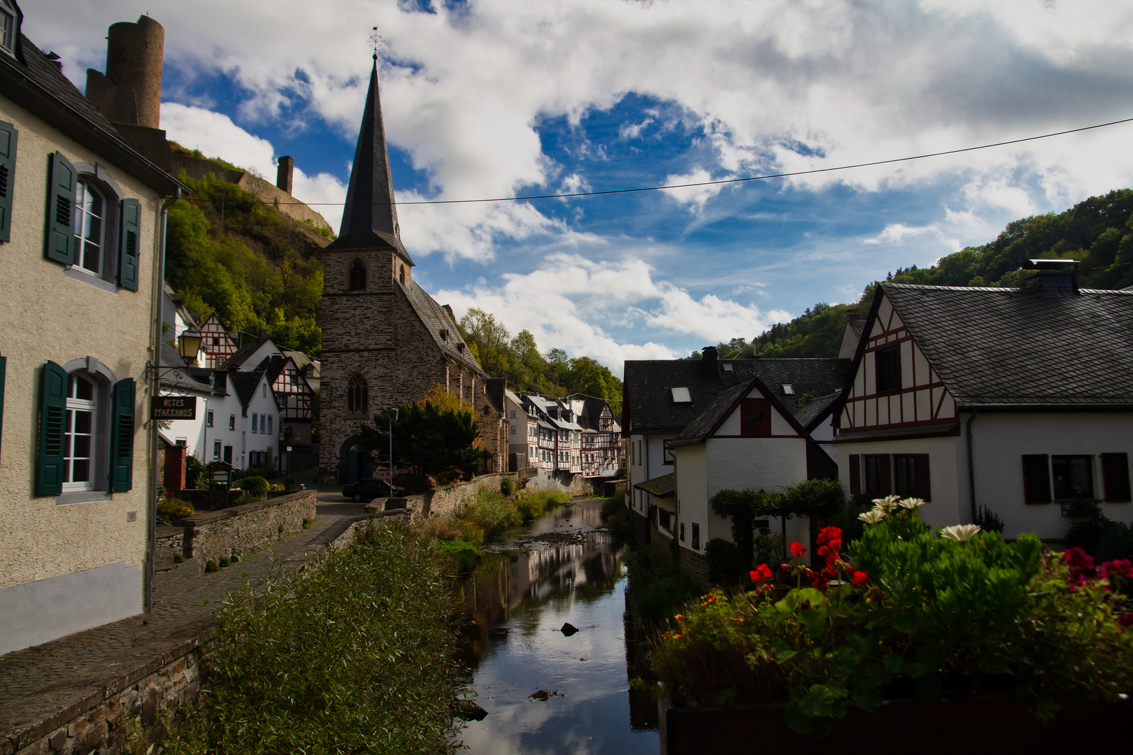
[[[445,394],[451,395],[451,394]],[[458,398],[459,401],[459,398]],[[443,409],[438,398],[391,406],[374,417],[374,427],[361,426],[359,443],[374,452],[378,463],[389,464],[390,418],[393,427],[394,463],[420,473],[435,474],[441,482],[471,478],[480,464],[480,434],[471,407]]]

